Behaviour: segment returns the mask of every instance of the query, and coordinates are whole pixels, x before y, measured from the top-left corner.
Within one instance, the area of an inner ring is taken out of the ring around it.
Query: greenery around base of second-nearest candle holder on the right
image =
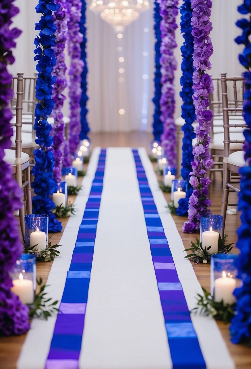
[[[233,244],[227,244],[227,234],[224,234],[223,241],[219,234],[219,242],[218,242],[218,252],[214,254],[224,253],[228,254],[231,249],[233,248]],[[204,263],[207,264],[211,262],[211,254],[209,254],[209,250],[211,249],[211,246],[208,246],[206,248],[202,247],[202,242],[199,242],[199,239],[196,237],[196,244],[191,241],[191,247],[188,249],[185,249],[184,251],[191,251],[190,254],[186,255],[185,258],[188,258],[191,262],[194,262],[194,264],[198,263]]]

